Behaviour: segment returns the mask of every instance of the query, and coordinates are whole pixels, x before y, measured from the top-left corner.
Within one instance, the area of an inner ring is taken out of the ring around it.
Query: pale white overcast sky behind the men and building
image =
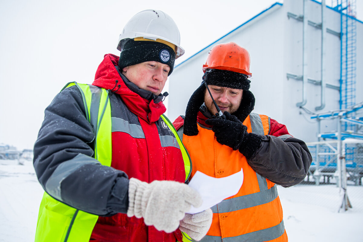
[[[66,83],[92,83],[104,54],[119,55],[118,36],[136,13],[174,19],[185,49],[177,65],[275,2],[0,0],[0,144],[32,149],[44,109]]]

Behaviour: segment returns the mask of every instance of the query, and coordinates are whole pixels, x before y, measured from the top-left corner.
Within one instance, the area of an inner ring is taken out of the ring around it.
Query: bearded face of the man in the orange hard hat
[[[230,114],[237,111],[238,107],[240,107],[242,100],[242,89],[232,89],[228,87],[219,87],[214,85],[208,85],[209,90],[216,101],[219,109],[222,112],[229,112]],[[214,106],[211,95],[209,95],[208,90],[205,90],[204,93],[204,103],[207,106],[209,112],[213,115],[216,114],[217,108]]]

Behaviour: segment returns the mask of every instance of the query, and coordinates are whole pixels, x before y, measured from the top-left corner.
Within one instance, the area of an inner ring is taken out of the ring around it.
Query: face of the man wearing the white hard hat
[[[169,71],[170,66],[166,64],[157,61],[146,61],[123,67],[122,74],[141,89],[159,95],[168,79]]]

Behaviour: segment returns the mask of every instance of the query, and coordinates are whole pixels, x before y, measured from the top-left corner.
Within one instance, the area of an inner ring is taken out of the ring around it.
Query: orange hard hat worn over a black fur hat
[[[234,42],[213,46],[208,54],[207,62],[203,65],[203,71],[207,69],[219,69],[234,71],[252,77],[249,72],[250,56],[245,48]]]

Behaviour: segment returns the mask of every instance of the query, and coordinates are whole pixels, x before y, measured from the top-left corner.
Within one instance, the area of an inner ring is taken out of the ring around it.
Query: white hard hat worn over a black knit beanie
[[[123,28],[118,39],[117,49],[122,51],[123,46],[129,39],[139,37],[144,40],[154,40],[169,45],[175,51],[175,58],[184,54],[184,49],[180,46],[178,26],[163,11],[147,9],[136,13]]]

